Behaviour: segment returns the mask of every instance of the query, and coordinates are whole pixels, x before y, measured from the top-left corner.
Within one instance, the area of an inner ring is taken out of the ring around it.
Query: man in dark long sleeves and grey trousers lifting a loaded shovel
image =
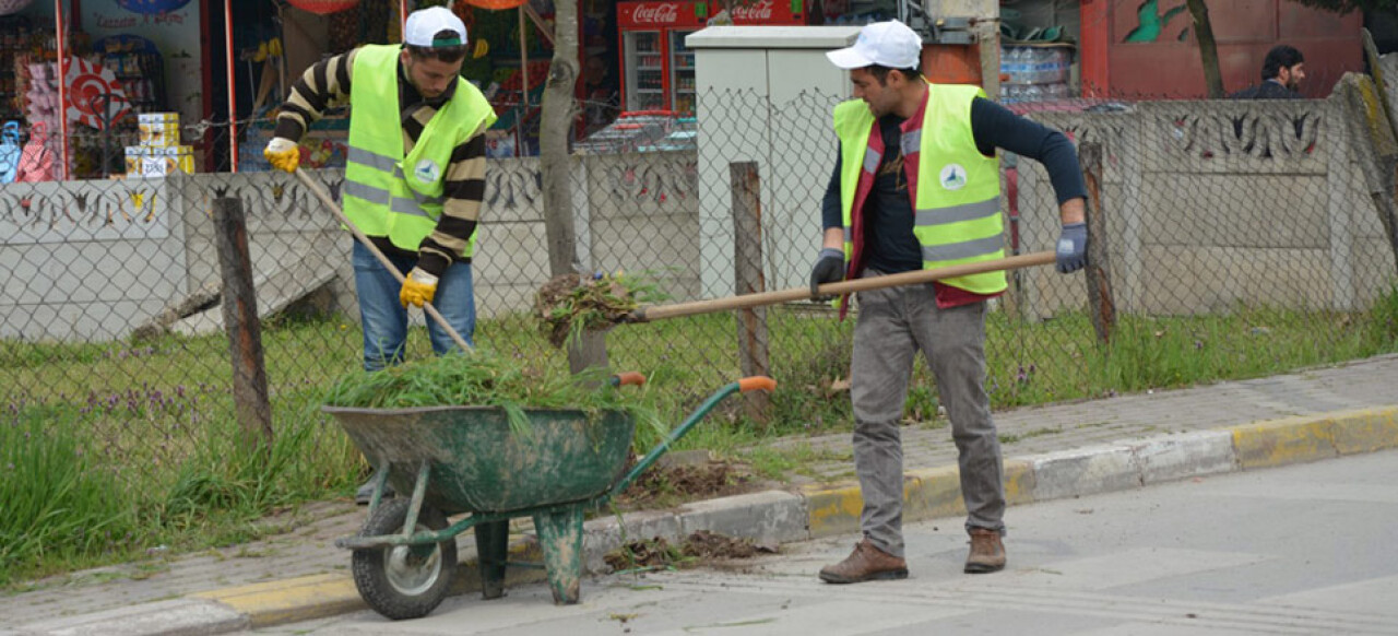
[[[1044,164],[1062,221],[1058,271],[1082,268],[1086,189],[1072,144],[986,99],[979,87],[927,82],[917,71],[921,50],[921,36],[891,21],[870,24],[854,46],[826,53],[850,71],[856,99],[835,108],[840,151],[825,194],[812,294],[843,278],[1004,257],[995,148]],[[1005,274],[997,271],[860,292],[850,398],[864,538],[849,558],[822,569],[822,580],[907,576],[899,424],[918,349],[959,453],[970,534],[965,572],[1005,566],[1000,442],[984,386],[986,301],[1005,288]],[[842,317],[847,308],[846,296]]]

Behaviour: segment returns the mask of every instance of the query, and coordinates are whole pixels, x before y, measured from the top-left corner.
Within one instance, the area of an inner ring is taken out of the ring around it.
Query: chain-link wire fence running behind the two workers
[[[836,102],[700,95],[693,130],[661,126],[658,138],[621,152],[594,144],[576,154],[579,261],[649,273],[672,301],[808,285]],[[995,407],[1391,351],[1398,266],[1384,166],[1395,152],[1387,123],[1356,109],[1362,102],[1341,92],[1030,112],[1083,148],[1092,264],[1009,275],[988,319]],[[563,365],[533,315],[549,278],[538,165],[489,161],[473,261],[475,342]],[[1058,208],[1043,168],[1005,157],[1001,169],[1007,253],[1051,250]],[[343,171],[312,175],[338,200]],[[317,411],[324,389],[361,366],[351,238],[275,172],[0,186],[0,386],[11,418],[80,422],[119,474],[169,475],[217,457],[208,449],[236,432],[218,197],[240,201],[247,218],[275,426],[309,426],[324,451],[352,457]],[[745,359],[765,365],[780,382],[769,426],[791,432],[847,422],[851,323],[826,303],[797,302],[619,326],[607,345],[614,368],[651,376],[674,419],[751,369]],[[763,337],[740,347],[740,324],[761,324]],[[408,356],[424,355],[425,334],[411,334]],[[909,417],[932,419],[935,390],[917,373]]]

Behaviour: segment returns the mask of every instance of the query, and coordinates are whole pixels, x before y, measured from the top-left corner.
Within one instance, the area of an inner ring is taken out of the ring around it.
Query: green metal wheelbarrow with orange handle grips
[[[640,384],[640,373],[614,376]],[[352,549],[359,595],[391,619],[419,618],[452,587],[456,535],[474,528],[481,593],[505,594],[509,520],[533,517],[554,602],[577,602],[583,570],[583,513],[626,489],[720,401],[772,390],[765,376],[719,389],[679,426],[626,470],[636,422],[624,412],[591,418],[573,410],[526,410],[527,433],[513,433],[495,407],[324,407],[376,467],[369,519]],[[384,484],[412,496],[382,500]],[[447,517],[468,513],[459,521]]]

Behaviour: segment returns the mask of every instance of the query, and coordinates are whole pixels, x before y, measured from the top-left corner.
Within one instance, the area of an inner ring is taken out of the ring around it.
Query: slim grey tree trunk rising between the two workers
[[[568,155],[569,129],[576,115],[573,89],[577,85],[577,3],[556,3],[554,14],[554,63],[548,67],[540,115],[538,165],[544,178],[544,232],[548,238],[551,277],[583,274],[573,229],[573,166]],[[582,342],[568,348],[568,366],[576,373],[589,366],[607,366],[605,335],[584,333]]]

